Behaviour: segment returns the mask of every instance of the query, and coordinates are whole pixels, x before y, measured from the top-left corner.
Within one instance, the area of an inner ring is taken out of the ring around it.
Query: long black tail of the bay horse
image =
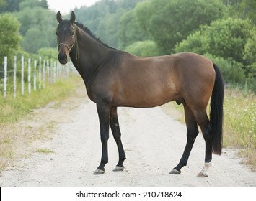
[[[211,95],[210,122],[213,134],[213,153],[221,155],[222,149],[222,124],[223,124],[223,102],[224,83],[219,67],[213,63],[215,70],[215,83]]]

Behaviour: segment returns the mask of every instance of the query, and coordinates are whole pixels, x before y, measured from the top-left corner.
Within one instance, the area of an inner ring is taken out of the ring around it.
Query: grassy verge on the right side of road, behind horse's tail
[[[167,106],[178,121],[184,122],[182,106],[168,103]],[[167,111],[167,110],[164,110]],[[175,111],[175,115],[173,114]],[[224,99],[224,147],[239,149],[244,164],[256,170],[256,97],[235,89],[225,90]]]

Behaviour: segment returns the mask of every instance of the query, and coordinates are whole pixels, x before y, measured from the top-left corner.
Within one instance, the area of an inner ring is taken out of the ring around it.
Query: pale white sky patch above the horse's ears
[[[47,0],[49,9],[61,11],[61,14],[68,14],[74,8],[81,6],[92,6],[100,0]]]

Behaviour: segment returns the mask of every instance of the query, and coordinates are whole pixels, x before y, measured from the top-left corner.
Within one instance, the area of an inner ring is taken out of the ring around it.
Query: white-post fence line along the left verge
[[[13,70],[8,70],[8,60],[7,57],[4,57],[4,71],[0,70],[0,73],[4,73],[4,83],[3,83],[3,95],[4,99],[7,97],[7,86],[10,84],[8,82],[8,73],[13,73],[13,97],[17,97],[17,72],[20,72],[20,94],[25,95],[25,73],[27,73],[27,93],[30,95],[37,90],[43,90],[46,85],[51,85],[56,83],[57,80],[61,78],[69,79],[69,72],[73,71],[74,67],[69,63],[68,65],[60,65],[56,61],[52,60],[43,60],[42,66],[42,58],[39,57],[39,60],[31,61],[31,59],[27,59],[27,70],[25,70],[25,59],[22,56],[20,66],[18,69],[17,65],[17,56],[14,56],[14,64]],[[45,78],[46,77],[46,78]],[[1,79],[0,79],[1,80]],[[32,86],[31,86],[32,85]]]

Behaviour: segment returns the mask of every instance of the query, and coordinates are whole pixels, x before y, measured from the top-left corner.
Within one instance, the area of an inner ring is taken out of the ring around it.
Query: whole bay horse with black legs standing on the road
[[[213,154],[221,154],[224,83],[216,64],[202,55],[181,52],[159,57],[136,57],[108,47],[82,24],[56,14],[58,60],[68,57],[84,80],[87,95],[97,105],[100,119],[102,157],[94,174],[103,174],[108,162],[109,128],[118,146],[119,161],[114,171],[123,171],[125,151],[118,123],[118,107],[150,108],[176,101],[185,110],[187,144],[180,162],[170,174],[180,174],[187,165],[198,136],[198,125],[206,141],[205,165],[198,174],[208,177]],[[211,97],[210,119],[206,107]]]

